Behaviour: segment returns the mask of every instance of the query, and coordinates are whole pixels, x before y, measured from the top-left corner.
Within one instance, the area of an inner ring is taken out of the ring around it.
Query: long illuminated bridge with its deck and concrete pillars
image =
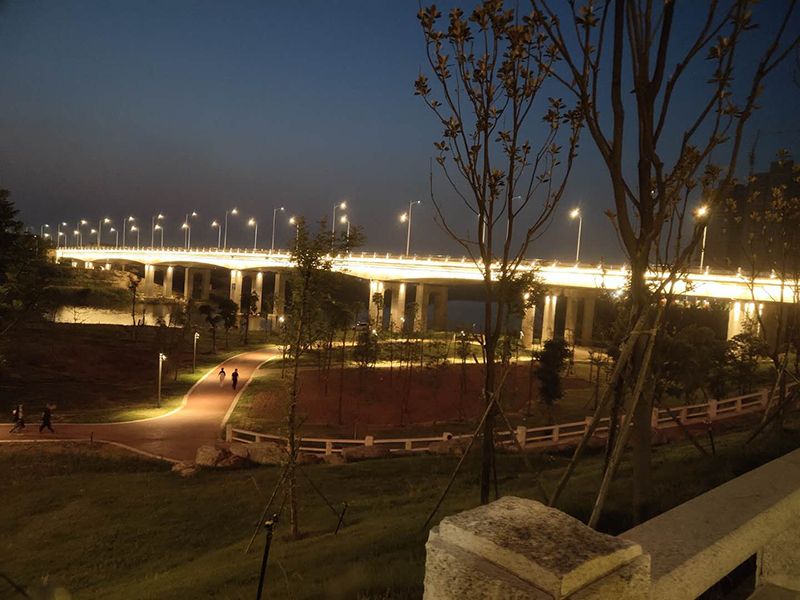
[[[144,269],[143,294],[156,297],[155,275],[163,271],[162,297],[172,298],[175,269],[184,270],[183,296],[191,298],[195,291],[195,276],[202,274],[200,297],[207,299],[211,293],[211,270],[230,272],[228,296],[241,304],[244,278],[250,278],[250,289],[260,300],[264,289],[264,275],[273,273],[275,288],[272,313],[268,319],[279,319],[284,314],[286,280],[293,263],[285,250],[259,251],[217,248],[121,248],[121,247],[60,247],[57,259],[71,260],[73,266],[111,269],[112,265],[141,265]],[[480,269],[467,257],[405,256],[377,252],[353,252],[331,256],[333,270],[370,282],[368,306],[370,317],[380,320],[373,294],[385,295],[389,319],[401,323],[405,319],[406,295],[414,286],[414,301],[418,315],[413,327],[428,327],[428,307],[433,301],[433,328],[445,329],[447,321],[447,286],[457,283],[480,282]],[[542,315],[542,341],[563,334],[570,342],[590,345],[592,340],[595,299],[601,290],[622,289],[629,276],[625,265],[560,264],[557,261],[526,260],[520,272],[536,270],[550,290],[544,300]],[[663,274],[650,273],[649,279],[658,281]],[[774,311],[783,302],[796,302],[797,290],[782,284],[774,277],[748,280],[740,273],[695,270],[674,284],[677,296],[698,300],[721,300],[730,303],[728,337],[743,330],[747,318],[755,311]],[[564,331],[556,331],[556,308],[561,299],[566,301]],[[579,319],[579,315],[581,318]],[[536,308],[526,311],[522,322],[522,337],[526,346],[533,342]],[[769,334],[769,332],[767,332]]]

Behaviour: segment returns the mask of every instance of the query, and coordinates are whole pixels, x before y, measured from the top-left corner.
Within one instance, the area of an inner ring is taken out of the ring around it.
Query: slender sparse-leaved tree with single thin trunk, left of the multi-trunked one
[[[497,344],[509,290],[528,247],[543,233],[564,193],[581,119],[559,98],[550,98],[544,124],[534,130],[538,139],[529,137],[555,61],[540,16],[506,9],[501,0],[481,2],[469,16],[453,9],[444,29],[438,28],[441,13],[436,6],[418,16],[436,91],[420,74],[416,94],[444,127],[443,139],[434,144],[436,160],[455,200],[437,197],[433,172],[431,199],[437,223],[483,276],[482,395],[492,406],[504,380]],[[562,125],[570,130],[565,164],[556,143]],[[455,224],[455,215],[464,212],[477,220],[474,237]],[[525,225],[519,227],[520,222]],[[481,503],[489,500],[494,428],[492,409],[483,427]]]

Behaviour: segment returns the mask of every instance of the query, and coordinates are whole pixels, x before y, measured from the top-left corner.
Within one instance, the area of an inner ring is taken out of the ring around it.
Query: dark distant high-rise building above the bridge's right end
[[[714,269],[733,269],[741,267],[745,273],[753,270],[753,254],[759,271],[767,267],[762,262],[764,246],[769,244],[769,234],[761,233],[764,226],[753,220],[752,215],[763,214],[772,201],[773,188],[786,186],[786,196],[800,196],[800,183],[795,181],[794,161],[773,162],[766,173],[756,173],[747,185],[733,186],[724,198],[736,202],[736,211],[727,203],[717,208],[709,217],[706,238],[705,265]],[[754,247],[749,241],[750,234],[755,237]],[[754,252],[755,251],[755,252]],[[698,247],[695,264],[700,261]]]

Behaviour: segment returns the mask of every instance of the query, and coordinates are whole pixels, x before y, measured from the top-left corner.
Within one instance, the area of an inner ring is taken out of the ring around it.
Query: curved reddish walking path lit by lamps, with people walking
[[[110,442],[137,452],[170,461],[194,460],[197,448],[220,439],[220,432],[235,402],[251,381],[253,373],[278,356],[275,348],[245,352],[211,369],[189,390],[183,405],[161,417],[122,423],[53,423],[55,433],[39,433],[38,413],[26,423],[22,434],[9,433],[3,425],[0,442],[88,440]],[[217,373],[225,368],[225,385],[220,388]],[[231,386],[231,373],[239,369],[239,385]],[[29,413],[31,414],[31,413]]]

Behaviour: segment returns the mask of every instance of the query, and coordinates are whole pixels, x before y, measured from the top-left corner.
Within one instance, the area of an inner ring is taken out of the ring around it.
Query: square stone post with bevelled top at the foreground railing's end
[[[650,556],[539,502],[506,496],[431,530],[424,600],[641,600]]]

